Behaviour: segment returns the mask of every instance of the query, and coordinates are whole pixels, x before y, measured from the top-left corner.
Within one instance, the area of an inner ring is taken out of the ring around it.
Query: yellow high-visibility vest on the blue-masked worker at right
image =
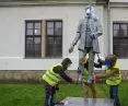
[[[119,66],[116,63],[114,66],[114,68],[118,68],[119,69]],[[110,70],[107,68],[106,69],[106,73],[109,73],[109,72],[110,72]],[[118,73],[114,73],[112,76],[106,79],[106,84],[108,84],[108,85],[118,85],[120,82],[121,82],[120,70],[119,70]]]

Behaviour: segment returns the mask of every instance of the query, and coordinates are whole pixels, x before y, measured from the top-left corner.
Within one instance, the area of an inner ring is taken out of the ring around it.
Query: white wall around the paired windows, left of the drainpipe
[[[98,15],[104,30],[103,8]],[[78,67],[78,46],[69,55],[70,43],[75,36],[77,25],[83,16],[84,7],[19,7],[0,8],[0,70],[46,70],[60,59],[25,59],[25,20],[60,19],[63,21],[62,58],[72,59],[70,70]],[[104,56],[104,35],[100,38]]]

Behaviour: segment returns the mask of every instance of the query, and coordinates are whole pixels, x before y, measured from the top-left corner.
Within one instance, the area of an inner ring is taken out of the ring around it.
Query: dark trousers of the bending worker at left
[[[56,87],[45,83],[45,106],[55,106]]]

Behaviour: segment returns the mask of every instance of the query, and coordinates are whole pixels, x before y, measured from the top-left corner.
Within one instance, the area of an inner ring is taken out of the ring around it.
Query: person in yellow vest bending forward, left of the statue
[[[62,79],[70,83],[77,83],[77,80],[71,79],[65,73],[71,63],[69,58],[65,58],[62,62],[51,66],[42,75],[45,85],[45,106],[55,106],[56,90],[58,90],[58,84]]]

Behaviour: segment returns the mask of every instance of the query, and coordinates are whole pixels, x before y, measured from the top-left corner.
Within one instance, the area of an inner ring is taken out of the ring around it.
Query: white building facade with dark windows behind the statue
[[[103,26],[100,55],[117,55],[120,69],[128,70],[128,2],[95,0],[93,3]],[[77,70],[78,47],[72,54],[68,49],[88,4],[88,0],[1,0],[0,76],[10,79],[12,73],[3,76],[7,71],[47,70],[66,57],[73,62],[69,70]]]

